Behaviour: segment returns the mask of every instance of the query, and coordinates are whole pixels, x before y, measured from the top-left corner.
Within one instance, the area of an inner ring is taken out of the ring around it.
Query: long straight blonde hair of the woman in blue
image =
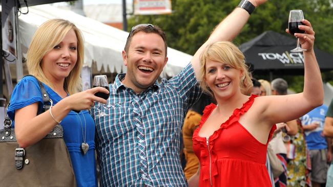
[[[80,30],[72,22],[64,19],[50,19],[44,22],[33,35],[27,54],[29,74],[54,89],[53,84],[43,73],[40,63],[44,55],[59,44],[72,29],[77,38],[77,61],[64,82],[64,88],[70,95],[81,90],[80,73],[84,59],[84,40]]]

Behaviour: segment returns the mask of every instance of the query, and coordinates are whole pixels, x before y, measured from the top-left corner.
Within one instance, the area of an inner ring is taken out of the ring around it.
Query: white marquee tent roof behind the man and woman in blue
[[[22,8],[25,12],[26,8]],[[81,16],[70,10],[58,9],[50,5],[29,7],[28,14],[19,17],[19,33],[22,43],[22,52],[28,50],[33,33],[39,25],[48,19],[63,18],[73,22],[83,33],[85,38],[84,66],[91,67],[92,62],[97,64],[97,70],[103,67],[106,72],[126,72],[123,65],[121,51],[126,43],[128,32],[102,24],[94,19]],[[173,77],[190,62],[192,56],[168,48],[169,61],[165,65],[161,77]]]

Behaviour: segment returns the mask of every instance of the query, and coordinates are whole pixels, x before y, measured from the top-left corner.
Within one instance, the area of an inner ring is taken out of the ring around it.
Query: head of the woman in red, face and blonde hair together
[[[204,49],[200,55],[201,79],[200,86],[205,92],[210,92],[207,86],[217,88],[216,82],[222,82],[219,89],[223,92],[236,91],[240,89],[241,93],[248,95],[251,92],[253,83],[247,71],[245,57],[236,45],[230,41],[219,41],[212,43]],[[213,72],[210,72],[211,68]],[[215,69],[215,72],[214,72]],[[210,85],[208,83],[210,82]],[[230,90],[231,88],[231,90]]]

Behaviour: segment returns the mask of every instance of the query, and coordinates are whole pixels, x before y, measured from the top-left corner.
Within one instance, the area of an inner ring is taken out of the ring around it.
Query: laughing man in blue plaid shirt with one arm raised
[[[248,0],[240,6],[264,2]],[[232,40],[251,11],[236,8],[191,63],[160,83],[157,78],[168,61],[164,32],[150,24],[132,28],[122,52],[127,73],[109,85],[108,103],[92,108],[101,186],[188,185],[180,165],[179,139],[185,113],[201,94],[199,56],[210,43]]]

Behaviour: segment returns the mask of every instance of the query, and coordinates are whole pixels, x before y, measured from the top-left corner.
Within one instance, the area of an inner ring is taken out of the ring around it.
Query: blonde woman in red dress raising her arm
[[[205,49],[200,62],[201,86],[210,89],[217,105],[204,110],[193,134],[200,161],[190,186],[271,186],[265,167],[267,143],[275,124],[299,118],[323,103],[323,85],[313,49],[315,32],[303,20],[304,34],[296,33],[304,55],[303,92],[286,96],[246,96],[252,85],[244,56],[231,42]],[[288,31],[287,31],[288,32]]]

